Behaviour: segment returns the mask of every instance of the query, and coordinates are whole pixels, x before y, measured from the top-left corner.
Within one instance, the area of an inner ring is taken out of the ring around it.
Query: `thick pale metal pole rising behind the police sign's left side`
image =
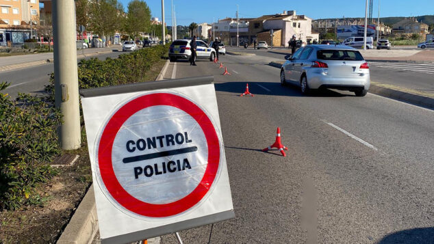
[[[55,107],[63,115],[58,132],[64,150],[81,145],[74,20],[74,0],[53,0]]]

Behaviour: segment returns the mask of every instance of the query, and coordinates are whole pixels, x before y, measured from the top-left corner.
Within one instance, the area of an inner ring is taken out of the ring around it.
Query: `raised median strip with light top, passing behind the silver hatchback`
[[[270,62],[268,65],[275,68],[281,68],[283,63],[284,61]],[[371,81],[369,92],[386,98],[400,100],[405,103],[434,109],[434,96],[428,92],[420,92],[418,90],[375,81]]]

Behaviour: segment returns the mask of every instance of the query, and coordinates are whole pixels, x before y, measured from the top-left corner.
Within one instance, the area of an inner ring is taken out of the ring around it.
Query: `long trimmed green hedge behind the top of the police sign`
[[[120,55],[118,58],[82,59],[78,63],[79,89],[103,87],[107,85],[123,85],[144,81],[144,75],[153,64],[162,58],[167,58],[170,44],[157,45],[140,49],[132,53]],[[54,91],[54,74],[51,73],[47,92]]]

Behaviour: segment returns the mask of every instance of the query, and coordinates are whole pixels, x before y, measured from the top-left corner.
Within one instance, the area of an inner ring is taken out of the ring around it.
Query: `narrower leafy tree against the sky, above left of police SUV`
[[[145,32],[151,26],[151,10],[143,0],[133,0],[128,3],[128,13],[125,18],[125,31],[133,38],[140,32]]]

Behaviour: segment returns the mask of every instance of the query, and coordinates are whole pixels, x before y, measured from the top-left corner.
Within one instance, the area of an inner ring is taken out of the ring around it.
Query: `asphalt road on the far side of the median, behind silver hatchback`
[[[285,55],[279,49],[238,49],[229,48],[243,53],[253,53],[270,59],[285,60]],[[371,81],[396,85],[412,90],[429,92],[434,96],[434,64],[407,64],[374,62],[370,64]]]

